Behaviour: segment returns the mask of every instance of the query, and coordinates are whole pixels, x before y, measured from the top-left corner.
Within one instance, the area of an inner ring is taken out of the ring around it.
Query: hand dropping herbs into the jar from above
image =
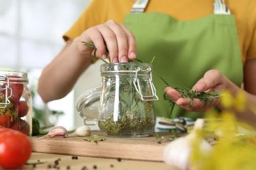
[[[127,62],[129,59],[136,58],[136,40],[135,36],[125,25],[117,24],[113,20],[108,20],[104,24],[96,25],[84,31],[75,42],[93,42],[96,47],[96,56],[103,59],[107,58],[106,45],[110,55],[111,63]],[[94,48],[85,46],[83,43],[77,43],[81,54],[94,53]]]

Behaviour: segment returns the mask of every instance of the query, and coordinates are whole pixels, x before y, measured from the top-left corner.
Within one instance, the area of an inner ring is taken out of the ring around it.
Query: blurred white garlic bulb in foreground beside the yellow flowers
[[[179,137],[175,141],[168,143],[163,150],[163,161],[165,163],[178,167],[179,169],[189,169],[190,167],[190,154],[193,152],[193,140],[198,137],[196,130],[203,127],[203,119],[196,120],[193,131],[185,137]],[[199,149],[203,153],[209,153],[212,150],[209,144],[203,137],[200,137],[200,142],[197,143]],[[198,140],[198,139],[196,139]]]

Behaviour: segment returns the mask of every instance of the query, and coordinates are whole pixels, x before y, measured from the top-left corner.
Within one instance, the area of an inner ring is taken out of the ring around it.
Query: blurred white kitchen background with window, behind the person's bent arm
[[[83,125],[75,101],[100,86],[100,64],[91,65],[74,90],[63,99],[43,103],[37,94],[42,69],[65,45],[62,35],[74,24],[91,0],[0,0],[0,70],[28,73],[33,94],[33,117],[41,126],[64,126],[68,130]],[[72,59],[72,56],[70,56]],[[51,83],[51,82],[49,82]],[[96,128],[96,126],[93,126]]]

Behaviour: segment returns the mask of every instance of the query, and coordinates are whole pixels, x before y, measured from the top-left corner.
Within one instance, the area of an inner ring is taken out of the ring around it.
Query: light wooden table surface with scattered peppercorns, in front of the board
[[[54,161],[58,161],[58,165],[54,168]],[[83,169],[87,167],[87,170],[104,169],[104,170],[135,170],[135,169],[161,169],[171,170],[173,167],[160,162],[160,161],[137,161],[137,160],[121,160],[110,158],[93,158],[77,156],[77,160],[72,159],[70,155],[62,154],[45,154],[33,152],[28,163],[37,163],[36,165],[24,165],[22,169]],[[51,165],[51,168],[49,166]]]

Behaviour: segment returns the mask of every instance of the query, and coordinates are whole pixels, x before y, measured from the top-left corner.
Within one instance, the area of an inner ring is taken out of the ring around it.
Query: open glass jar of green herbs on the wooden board
[[[158,101],[148,63],[106,63],[100,67],[102,90],[98,127],[110,137],[146,137],[156,124]]]

